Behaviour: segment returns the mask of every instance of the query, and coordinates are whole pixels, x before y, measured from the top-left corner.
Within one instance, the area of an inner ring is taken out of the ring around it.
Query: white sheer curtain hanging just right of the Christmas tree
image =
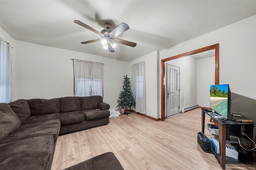
[[[136,101],[135,111],[146,114],[145,61],[132,65],[132,93]]]

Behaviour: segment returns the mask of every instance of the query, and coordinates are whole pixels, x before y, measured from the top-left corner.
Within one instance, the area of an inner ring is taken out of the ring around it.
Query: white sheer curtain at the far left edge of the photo
[[[11,48],[0,38],[0,103],[11,102]]]

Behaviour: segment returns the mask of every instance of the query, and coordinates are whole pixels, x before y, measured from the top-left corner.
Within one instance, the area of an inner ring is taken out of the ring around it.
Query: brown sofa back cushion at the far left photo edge
[[[20,120],[11,106],[6,103],[0,104],[0,140],[2,141],[20,127]]]

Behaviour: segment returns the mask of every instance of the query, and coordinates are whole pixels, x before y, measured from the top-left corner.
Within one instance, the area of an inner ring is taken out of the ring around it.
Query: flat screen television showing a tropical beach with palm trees
[[[231,108],[231,92],[228,84],[210,86],[210,108],[227,120],[233,119]]]

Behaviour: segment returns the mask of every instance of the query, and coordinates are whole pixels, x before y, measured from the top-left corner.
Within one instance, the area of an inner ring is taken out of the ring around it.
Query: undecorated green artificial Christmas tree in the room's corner
[[[123,91],[120,92],[119,97],[118,97],[118,107],[122,107],[125,109],[124,114],[128,115],[127,113],[127,108],[130,108],[135,105],[135,100],[132,94],[132,89],[130,87],[130,78],[124,76],[124,81],[123,81]]]

